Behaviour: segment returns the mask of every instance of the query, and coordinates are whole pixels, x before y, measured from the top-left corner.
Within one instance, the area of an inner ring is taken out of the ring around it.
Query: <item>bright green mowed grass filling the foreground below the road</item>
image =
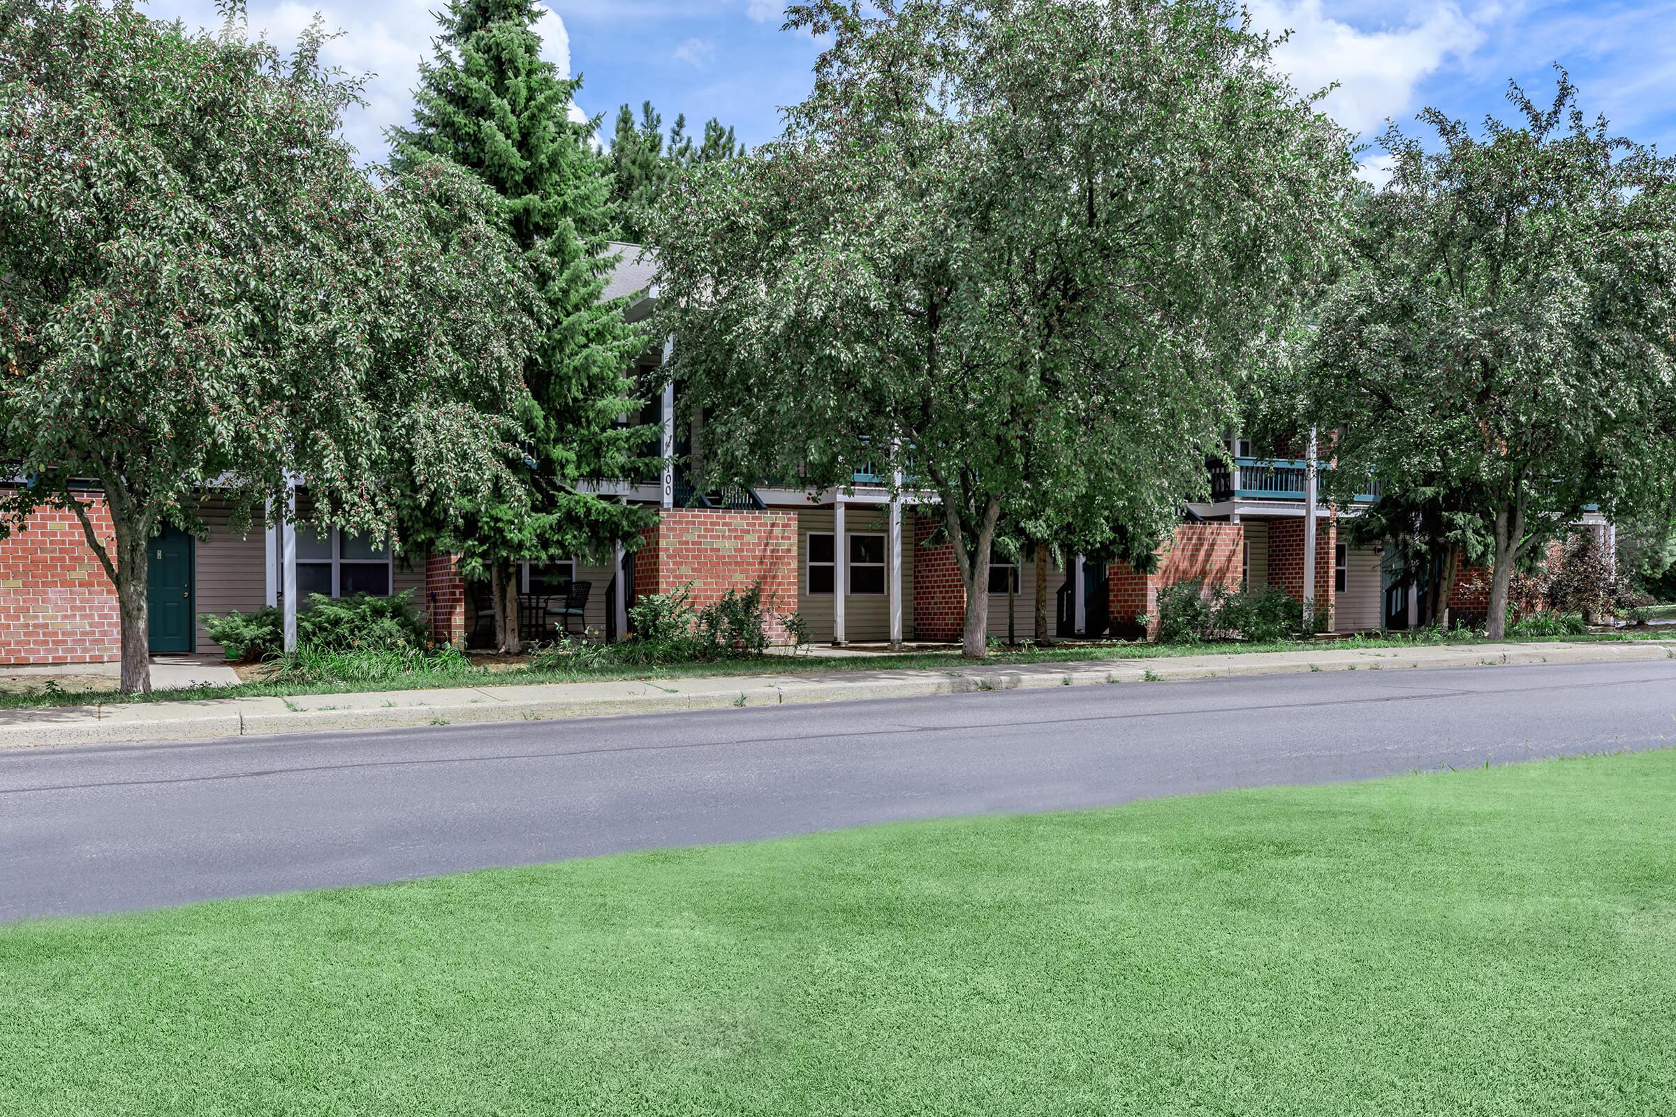
[[[1676,752],[0,928],[3,1114],[1671,1114]]]

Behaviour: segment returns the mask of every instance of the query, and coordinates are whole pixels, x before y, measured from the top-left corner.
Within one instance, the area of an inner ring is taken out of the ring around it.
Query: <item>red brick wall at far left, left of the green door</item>
[[[89,509],[116,549],[104,501]],[[0,541],[0,663],[111,663],[122,658],[116,586],[74,512],[40,511]]]

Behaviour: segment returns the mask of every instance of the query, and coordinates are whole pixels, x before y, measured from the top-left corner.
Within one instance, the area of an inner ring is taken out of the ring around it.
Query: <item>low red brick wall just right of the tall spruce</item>
[[[672,593],[689,583],[696,608],[719,601],[729,589],[763,583],[769,640],[791,643],[778,615],[798,608],[796,512],[665,509],[635,553],[635,596]]]

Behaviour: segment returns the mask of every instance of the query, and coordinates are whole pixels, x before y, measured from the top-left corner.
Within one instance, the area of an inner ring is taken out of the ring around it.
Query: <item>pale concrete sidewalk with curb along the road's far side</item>
[[[1145,660],[1029,665],[954,665],[947,670],[853,670],[810,675],[711,675],[598,683],[387,690],[129,702],[99,707],[0,710],[0,749],[199,740],[255,734],[397,728],[466,722],[516,722],[622,713],[675,713],[788,702],[912,698],[1021,687],[1292,675],[1301,672],[1502,667],[1517,663],[1634,663],[1676,658],[1676,638],[1622,643],[1480,643],[1408,648],[1207,653]]]

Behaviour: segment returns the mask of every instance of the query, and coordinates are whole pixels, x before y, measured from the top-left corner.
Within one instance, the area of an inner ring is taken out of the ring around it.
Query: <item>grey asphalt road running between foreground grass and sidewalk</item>
[[[1676,744],[1676,661],[0,752],[0,919]]]

